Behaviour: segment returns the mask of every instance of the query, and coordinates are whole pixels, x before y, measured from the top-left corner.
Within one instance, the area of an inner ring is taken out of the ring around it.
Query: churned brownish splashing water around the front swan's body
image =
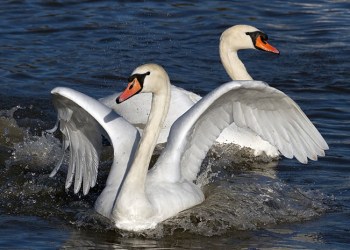
[[[66,168],[49,178],[62,154],[60,135],[36,135],[30,128],[19,126],[14,118],[17,110],[19,107],[0,111],[0,210],[7,214],[53,218],[73,227],[114,231],[125,237],[159,238],[182,232],[213,236],[310,220],[325,213],[331,200],[317,190],[284,183],[275,170],[276,160],[253,157],[248,149],[234,145],[214,146],[197,180],[206,196],[202,204],[153,230],[123,232],[93,210],[108,176],[111,146],[102,152],[96,187],[86,196],[74,195],[64,189]],[[63,166],[67,164],[65,159]]]

